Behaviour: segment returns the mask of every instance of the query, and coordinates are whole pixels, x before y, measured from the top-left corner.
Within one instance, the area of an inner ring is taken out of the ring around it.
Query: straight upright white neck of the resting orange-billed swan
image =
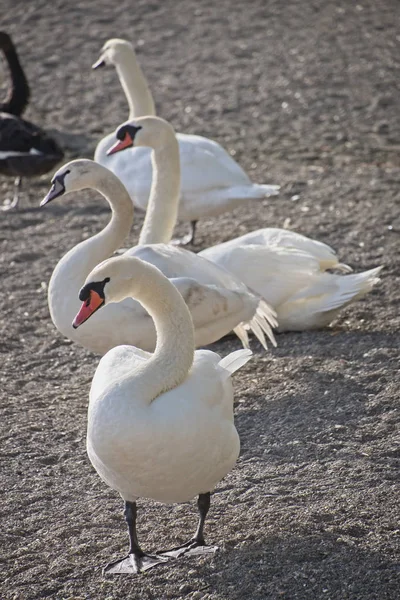
[[[171,134],[168,142],[151,156],[153,179],[139,244],[168,244],[178,218],[180,196],[179,144]]]

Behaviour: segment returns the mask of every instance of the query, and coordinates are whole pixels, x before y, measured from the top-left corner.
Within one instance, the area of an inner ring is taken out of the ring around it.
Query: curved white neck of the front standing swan
[[[157,345],[152,357],[135,371],[135,381],[150,403],[163,392],[180,385],[193,364],[194,331],[192,318],[182,296],[160,271],[145,262],[140,291],[131,293],[154,321]]]

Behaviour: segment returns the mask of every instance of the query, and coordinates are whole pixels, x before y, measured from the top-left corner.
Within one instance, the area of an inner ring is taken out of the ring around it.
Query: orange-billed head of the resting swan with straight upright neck
[[[126,121],[115,131],[117,141],[107,155],[121,152],[126,148],[147,146],[156,150],[165,146],[171,138],[175,138],[175,131],[167,121],[160,117],[139,117],[133,121]]]

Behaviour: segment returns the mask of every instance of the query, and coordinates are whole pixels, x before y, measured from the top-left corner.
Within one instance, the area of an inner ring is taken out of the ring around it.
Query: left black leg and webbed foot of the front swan
[[[137,574],[155,567],[159,564],[164,564],[168,561],[168,557],[152,556],[143,552],[139,546],[136,533],[136,517],[137,506],[136,502],[125,502],[124,511],[126,523],[129,532],[129,554],[121,560],[109,563],[104,569],[104,574],[130,573]]]

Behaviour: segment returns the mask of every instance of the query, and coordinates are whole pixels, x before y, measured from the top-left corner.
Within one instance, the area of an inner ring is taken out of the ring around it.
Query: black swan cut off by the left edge
[[[29,100],[29,87],[11,38],[4,32],[0,32],[0,49],[12,77],[10,94],[0,105],[0,173],[16,177],[13,200],[0,207],[9,210],[18,204],[22,177],[48,173],[64,152],[46,131],[20,117]]]

